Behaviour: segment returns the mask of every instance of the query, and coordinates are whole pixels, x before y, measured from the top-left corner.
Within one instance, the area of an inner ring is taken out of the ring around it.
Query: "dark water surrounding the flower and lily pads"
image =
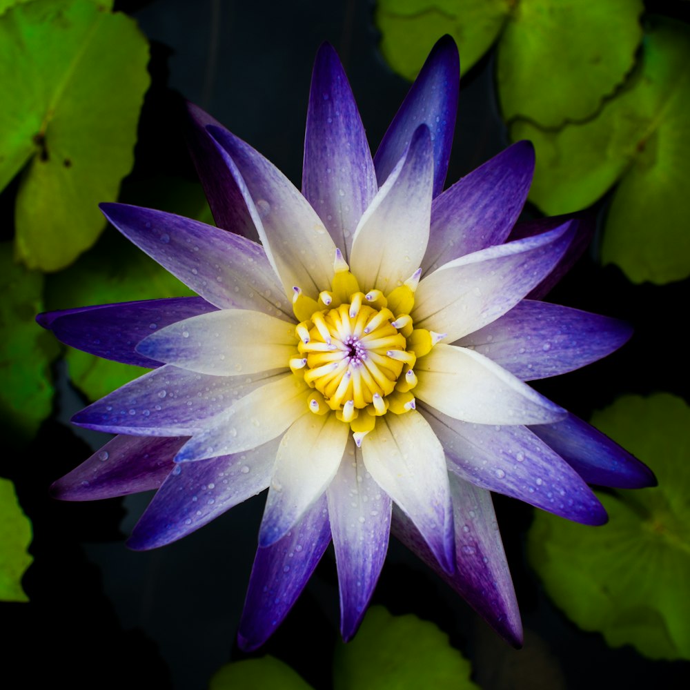
[[[647,2],[682,17],[688,3]],[[122,199],[157,175],[194,179],[181,136],[183,99],[208,110],[299,186],[311,67],[322,41],[342,58],[375,150],[408,83],[377,50],[373,4],[366,0],[122,1],[151,41],[152,86],[146,97],[137,163]],[[462,80],[449,184],[508,143],[493,89],[489,54]],[[605,200],[602,202],[602,208]],[[575,209],[573,209],[575,210]],[[526,209],[535,214],[534,209]],[[679,313],[687,319],[688,282],[633,286],[618,268],[602,268],[595,248],[549,299],[627,319],[635,335],[622,351],[582,371],[542,382],[555,402],[588,417],[622,393],[668,391],[688,399],[687,382],[668,348]],[[680,311],[679,311],[680,310]],[[659,348],[669,355],[658,356]],[[686,347],[680,344],[685,357]],[[34,563],[23,585],[29,604],[1,604],[4,687],[153,687],[197,690],[228,660],[244,658],[235,633],[253,561],[264,497],[250,500],[181,542],[134,553],[124,537],[148,495],[68,504],[48,497],[57,477],[90,449],[60,420],[83,400],[61,377],[55,415],[28,447],[10,449],[0,474],[17,486],[34,526]],[[99,440],[89,442],[98,445]],[[103,441],[106,437],[103,437]],[[59,453],[59,455],[58,455]],[[631,647],[609,649],[547,600],[524,557],[532,509],[496,497],[499,524],[526,629],[514,651],[420,562],[393,542],[374,595],[393,613],[433,620],[473,662],[489,689],[684,687],[690,664],[653,662]],[[338,640],[335,562],[329,551],[293,611],[261,653],[293,665],[317,689],[331,678]],[[690,624],[690,623],[689,623]],[[9,676],[6,676],[6,680]]]

